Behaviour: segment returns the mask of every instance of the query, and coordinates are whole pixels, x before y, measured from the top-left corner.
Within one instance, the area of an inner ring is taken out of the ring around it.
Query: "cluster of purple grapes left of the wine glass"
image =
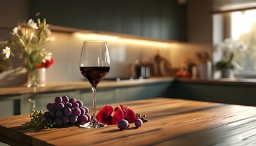
[[[69,99],[68,96],[55,97],[54,103],[48,103],[46,108],[48,111],[44,113],[44,119],[47,122],[54,122],[57,127],[91,120],[89,109],[83,102],[74,98]]]

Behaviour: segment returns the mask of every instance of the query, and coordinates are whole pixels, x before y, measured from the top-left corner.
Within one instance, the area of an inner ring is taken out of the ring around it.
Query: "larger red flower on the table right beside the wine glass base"
[[[105,105],[98,114],[96,115],[96,119],[99,122],[107,123],[108,125],[115,125],[119,120],[124,119],[124,113],[121,109],[115,110],[115,113],[112,116],[113,107]]]

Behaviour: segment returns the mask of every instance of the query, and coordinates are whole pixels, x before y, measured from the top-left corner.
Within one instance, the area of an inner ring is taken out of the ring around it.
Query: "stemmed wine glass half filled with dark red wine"
[[[93,119],[91,122],[80,124],[84,128],[107,126],[96,119],[96,87],[108,74],[110,59],[106,41],[84,41],[80,55],[80,72],[90,82],[93,90]]]

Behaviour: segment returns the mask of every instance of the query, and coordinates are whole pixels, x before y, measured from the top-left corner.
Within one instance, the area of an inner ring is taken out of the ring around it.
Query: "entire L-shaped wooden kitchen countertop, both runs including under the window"
[[[161,82],[178,82],[185,83],[207,83],[207,84],[221,84],[221,85],[243,85],[243,86],[256,86],[256,78],[177,78],[177,77],[153,77],[145,79],[121,80],[120,82],[103,80],[99,83],[98,88],[115,88],[122,86],[137,86],[147,85],[151,83]],[[90,89],[91,85],[87,81],[75,81],[75,82],[55,82],[48,83],[45,87],[38,87],[37,92],[57,92],[57,91],[70,91],[76,89]],[[27,94],[34,92],[34,88],[27,88],[24,86],[9,86],[0,88],[0,96],[14,95],[14,94]]]

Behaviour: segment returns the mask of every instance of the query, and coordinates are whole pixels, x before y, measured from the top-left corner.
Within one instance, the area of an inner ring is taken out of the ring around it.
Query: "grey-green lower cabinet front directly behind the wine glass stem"
[[[97,105],[126,102],[131,100],[152,99],[156,97],[169,97],[171,82],[152,83],[149,85],[123,86],[118,88],[96,89]],[[92,106],[93,96],[91,89],[80,90],[80,100],[85,106]]]

